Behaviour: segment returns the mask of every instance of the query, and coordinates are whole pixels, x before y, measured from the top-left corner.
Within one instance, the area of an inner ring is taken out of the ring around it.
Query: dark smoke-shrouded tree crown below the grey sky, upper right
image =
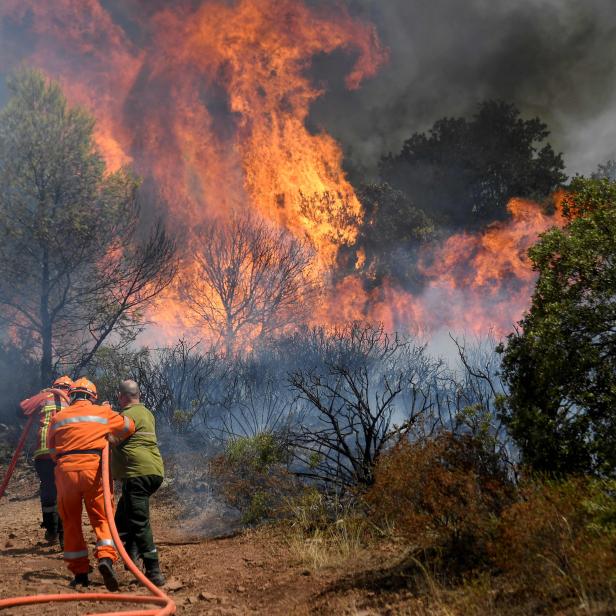
[[[565,181],[547,126],[487,101],[470,119],[443,118],[381,160],[381,176],[438,222],[476,227],[506,216],[511,197],[542,198]]]

